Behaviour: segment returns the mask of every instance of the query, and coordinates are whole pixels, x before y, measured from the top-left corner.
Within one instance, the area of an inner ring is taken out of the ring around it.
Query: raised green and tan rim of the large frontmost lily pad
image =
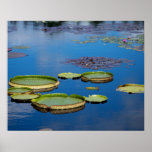
[[[80,99],[81,101],[74,103],[74,104],[64,104],[64,105],[51,105],[48,106],[46,104],[42,104],[39,103],[39,101],[43,98],[46,97],[71,97],[71,98],[75,98],[75,99]],[[83,96],[77,95],[77,94],[71,94],[70,96],[68,96],[65,93],[52,93],[52,94],[45,94],[45,95],[41,95],[39,98],[36,99],[32,99],[32,104],[35,106],[38,106],[40,108],[44,108],[44,109],[56,109],[56,110],[63,110],[63,109],[72,109],[72,108],[77,108],[77,107],[81,107],[83,105],[85,105],[85,98]]]

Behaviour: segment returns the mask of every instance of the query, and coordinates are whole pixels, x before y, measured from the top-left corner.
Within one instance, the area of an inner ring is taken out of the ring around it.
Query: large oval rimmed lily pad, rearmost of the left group
[[[28,87],[34,92],[50,91],[59,85],[59,81],[50,76],[45,75],[24,75],[15,76],[9,81],[12,87]]]

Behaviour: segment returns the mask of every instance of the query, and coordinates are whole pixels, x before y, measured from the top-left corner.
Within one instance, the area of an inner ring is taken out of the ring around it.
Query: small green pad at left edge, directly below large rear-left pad
[[[23,93],[32,93],[32,89],[30,88],[18,88],[18,87],[12,87],[8,89],[8,94],[23,94]]]

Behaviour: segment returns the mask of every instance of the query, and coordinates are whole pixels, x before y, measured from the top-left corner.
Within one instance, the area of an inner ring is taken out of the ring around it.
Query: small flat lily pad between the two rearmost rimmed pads
[[[58,74],[58,77],[62,79],[77,79],[81,77],[81,74],[68,72]]]

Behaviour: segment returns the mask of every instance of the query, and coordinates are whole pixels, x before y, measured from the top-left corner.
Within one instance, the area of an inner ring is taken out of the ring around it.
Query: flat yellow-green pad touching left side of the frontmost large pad
[[[28,101],[38,98],[39,96],[40,94],[13,94],[11,95],[11,98],[18,101]]]

